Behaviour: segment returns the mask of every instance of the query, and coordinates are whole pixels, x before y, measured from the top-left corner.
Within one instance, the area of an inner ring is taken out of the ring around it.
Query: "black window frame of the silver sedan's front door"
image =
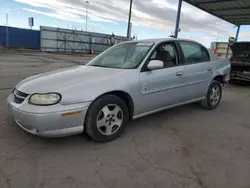
[[[165,69],[169,69],[169,68],[174,68],[174,67],[178,67],[178,66],[182,66],[182,62],[183,62],[183,54],[181,55],[181,49],[180,49],[180,45],[178,45],[176,40],[169,40],[169,41],[163,41],[160,42],[159,44],[157,44],[154,49],[150,52],[149,56],[147,57],[147,60],[145,61],[144,65],[141,68],[141,72],[148,72],[148,71],[152,71],[152,70],[148,70],[147,66],[150,62],[150,58],[151,56],[154,54],[155,50],[163,45],[163,44],[173,44],[174,48],[175,48],[175,52],[176,52],[176,66],[173,67],[166,67],[166,68],[162,68],[162,69],[158,69],[158,70],[165,70]]]

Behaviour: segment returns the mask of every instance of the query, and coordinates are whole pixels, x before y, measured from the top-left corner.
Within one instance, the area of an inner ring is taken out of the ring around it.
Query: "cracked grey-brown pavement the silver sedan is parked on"
[[[249,188],[250,88],[226,86],[219,108],[187,105],[130,122],[117,140],[44,139],[21,130],[6,98],[21,79],[84,57],[0,55],[0,187]]]

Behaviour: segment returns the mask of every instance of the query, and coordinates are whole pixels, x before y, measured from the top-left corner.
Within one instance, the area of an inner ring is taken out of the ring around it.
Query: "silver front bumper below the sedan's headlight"
[[[28,104],[27,98],[22,104],[15,103],[12,94],[7,99],[13,119],[25,131],[43,137],[63,137],[83,132],[89,103],[41,107]],[[80,112],[62,116],[73,111]]]

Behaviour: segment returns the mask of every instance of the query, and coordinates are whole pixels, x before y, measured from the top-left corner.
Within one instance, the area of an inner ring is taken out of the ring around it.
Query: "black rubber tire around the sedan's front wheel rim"
[[[97,116],[103,107],[114,104],[120,107],[123,113],[123,122],[120,128],[112,135],[104,135],[97,128]],[[95,141],[108,142],[115,140],[123,132],[129,120],[128,108],[125,102],[115,95],[103,95],[96,99],[90,106],[85,118],[85,132]]]

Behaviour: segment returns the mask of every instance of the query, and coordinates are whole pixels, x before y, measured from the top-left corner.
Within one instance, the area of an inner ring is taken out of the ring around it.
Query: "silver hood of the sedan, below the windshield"
[[[83,85],[84,82],[89,83],[100,79],[109,79],[109,77],[124,71],[126,70],[76,66],[31,76],[21,81],[16,88],[27,94],[59,92],[61,89],[75,84]]]

